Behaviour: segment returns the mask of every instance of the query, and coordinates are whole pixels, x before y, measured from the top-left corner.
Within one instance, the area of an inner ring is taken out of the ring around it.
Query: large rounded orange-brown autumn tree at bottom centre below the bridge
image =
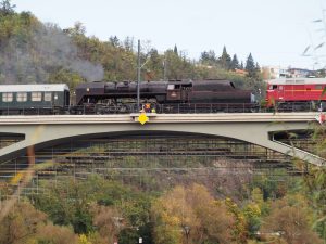
[[[158,244],[231,243],[233,240],[234,217],[203,185],[176,187],[154,202],[152,216]]]

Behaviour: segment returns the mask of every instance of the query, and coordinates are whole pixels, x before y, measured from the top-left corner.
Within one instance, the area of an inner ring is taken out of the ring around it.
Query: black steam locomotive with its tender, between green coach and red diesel
[[[140,103],[150,103],[158,112],[249,112],[255,104],[251,91],[237,89],[229,80],[142,81],[139,89]],[[133,111],[137,82],[86,82],[75,92],[77,110],[72,113],[80,113],[78,106],[100,114]]]

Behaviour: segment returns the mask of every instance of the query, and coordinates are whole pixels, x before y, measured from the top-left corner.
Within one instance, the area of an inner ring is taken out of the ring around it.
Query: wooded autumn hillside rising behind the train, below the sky
[[[15,12],[9,0],[0,3],[0,82],[67,82],[71,88],[83,81],[136,80],[137,49],[133,37],[106,41],[86,36],[82,23],[61,29],[41,23],[30,12]],[[238,87],[256,91],[260,68],[249,54],[246,65],[233,59],[224,47],[218,57],[214,51],[203,51],[200,60],[190,60],[175,46],[164,53],[141,42],[142,80],[226,78]],[[243,67],[244,66],[244,67]],[[247,75],[237,75],[236,69]]]

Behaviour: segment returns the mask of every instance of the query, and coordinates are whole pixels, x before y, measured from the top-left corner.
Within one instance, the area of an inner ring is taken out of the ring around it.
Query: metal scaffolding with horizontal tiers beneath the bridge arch
[[[35,157],[30,168],[29,156]],[[168,178],[170,175],[214,177],[216,174],[254,175],[284,169],[297,171],[289,156],[243,141],[193,134],[134,134],[70,141],[36,151],[0,165],[3,192],[20,187],[20,174],[34,170],[25,194],[41,191],[39,181],[65,177],[85,179],[90,174],[106,179]],[[8,188],[3,190],[4,188]]]

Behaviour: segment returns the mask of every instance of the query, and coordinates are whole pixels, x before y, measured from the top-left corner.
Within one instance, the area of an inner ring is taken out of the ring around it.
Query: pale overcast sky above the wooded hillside
[[[326,0],[12,0],[61,28],[82,22],[88,36],[134,37],[163,53],[176,44],[189,59],[223,47],[261,66],[326,66]],[[325,9],[325,11],[323,11]],[[314,22],[323,20],[325,22]],[[322,44],[322,48],[317,48]],[[310,49],[302,55],[304,50]],[[325,55],[325,56],[324,56]]]

